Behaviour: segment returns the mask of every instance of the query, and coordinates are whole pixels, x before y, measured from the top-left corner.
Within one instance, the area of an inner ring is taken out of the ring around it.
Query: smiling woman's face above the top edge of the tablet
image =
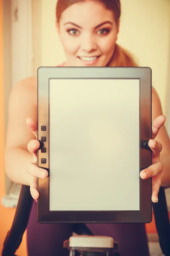
[[[57,24],[71,67],[105,67],[111,59],[119,32],[113,12],[99,1],[71,5]]]

